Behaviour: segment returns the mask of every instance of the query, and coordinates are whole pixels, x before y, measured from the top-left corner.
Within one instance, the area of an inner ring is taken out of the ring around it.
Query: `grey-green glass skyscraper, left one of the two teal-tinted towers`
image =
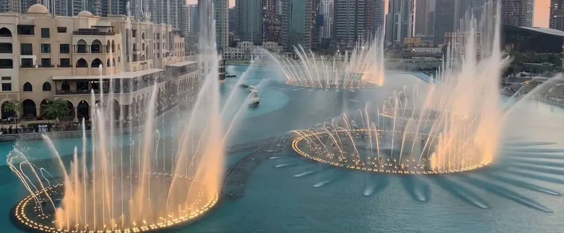
[[[235,35],[241,41],[261,42],[262,1],[235,1]]]

